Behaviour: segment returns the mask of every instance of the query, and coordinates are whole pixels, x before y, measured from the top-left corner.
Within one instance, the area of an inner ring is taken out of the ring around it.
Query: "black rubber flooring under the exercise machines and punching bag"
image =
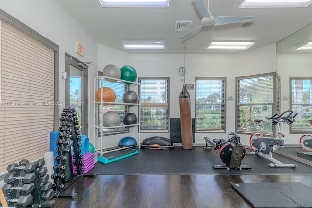
[[[137,147],[135,147],[137,148]],[[295,163],[297,168],[270,168],[270,161],[256,155],[246,155],[242,165],[251,170],[212,169],[213,165],[223,164],[215,150],[203,150],[194,146],[192,150],[184,150],[175,146],[173,150],[138,149],[139,153],[109,164],[96,163],[88,174],[131,175],[131,174],[211,174],[211,175],[283,175],[312,174],[312,167],[293,161],[282,155],[273,154],[284,163]]]

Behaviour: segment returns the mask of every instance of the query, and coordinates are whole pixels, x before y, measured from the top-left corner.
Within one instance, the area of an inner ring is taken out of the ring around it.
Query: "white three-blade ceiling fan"
[[[213,24],[215,24],[215,26],[219,26],[219,25],[224,25],[224,24],[251,21],[254,19],[254,17],[231,17],[231,16],[217,16],[215,18],[214,16],[210,15],[209,0],[208,0],[208,7],[206,6],[203,0],[195,0],[195,4],[196,4],[198,12],[200,13],[201,16],[203,16],[203,19],[201,19],[201,25],[199,25],[194,30],[187,33],[181,39],[189,38],[190,36],[198,32],[203,26],[209,26]]]

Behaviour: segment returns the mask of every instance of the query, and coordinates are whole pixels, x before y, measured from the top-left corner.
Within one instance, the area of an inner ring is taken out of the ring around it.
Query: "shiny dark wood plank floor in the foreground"
[[[244,170],[243,170],[244,171]],[[80,177],[54,208],[251,208],[230,182],[301,182],[312,175],[98,175]]]

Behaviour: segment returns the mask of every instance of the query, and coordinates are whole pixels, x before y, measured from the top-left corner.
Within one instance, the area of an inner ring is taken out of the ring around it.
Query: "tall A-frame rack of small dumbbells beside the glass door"
[[[76,198],[76,193],[73,195],[61,194],[82,175],[83,171],[81,169],[82,162],[80,161],[83,155],[80,154],[81,149],[79,149],[81,146],[81,130],[77,121],[76,110],[64,108],[59,120],[59,140],[56,142],[59,147],[55,150],[59,156],[54,157],[57,165],[53,166],[55,174],[51,177],[54,180],[53,189],[55,197]],[[74,161],[72,161],[72,155]],[[73,163],[76,166],[76,175],[73,174]]]

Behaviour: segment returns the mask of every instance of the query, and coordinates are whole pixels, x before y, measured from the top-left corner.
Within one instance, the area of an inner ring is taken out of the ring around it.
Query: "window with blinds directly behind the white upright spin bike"
[[[274,135],[271,117],[280,113],[280,78],[267,73],[236,78],[236,131],[258,132],[254,119],[263,119],[263,132]]]

